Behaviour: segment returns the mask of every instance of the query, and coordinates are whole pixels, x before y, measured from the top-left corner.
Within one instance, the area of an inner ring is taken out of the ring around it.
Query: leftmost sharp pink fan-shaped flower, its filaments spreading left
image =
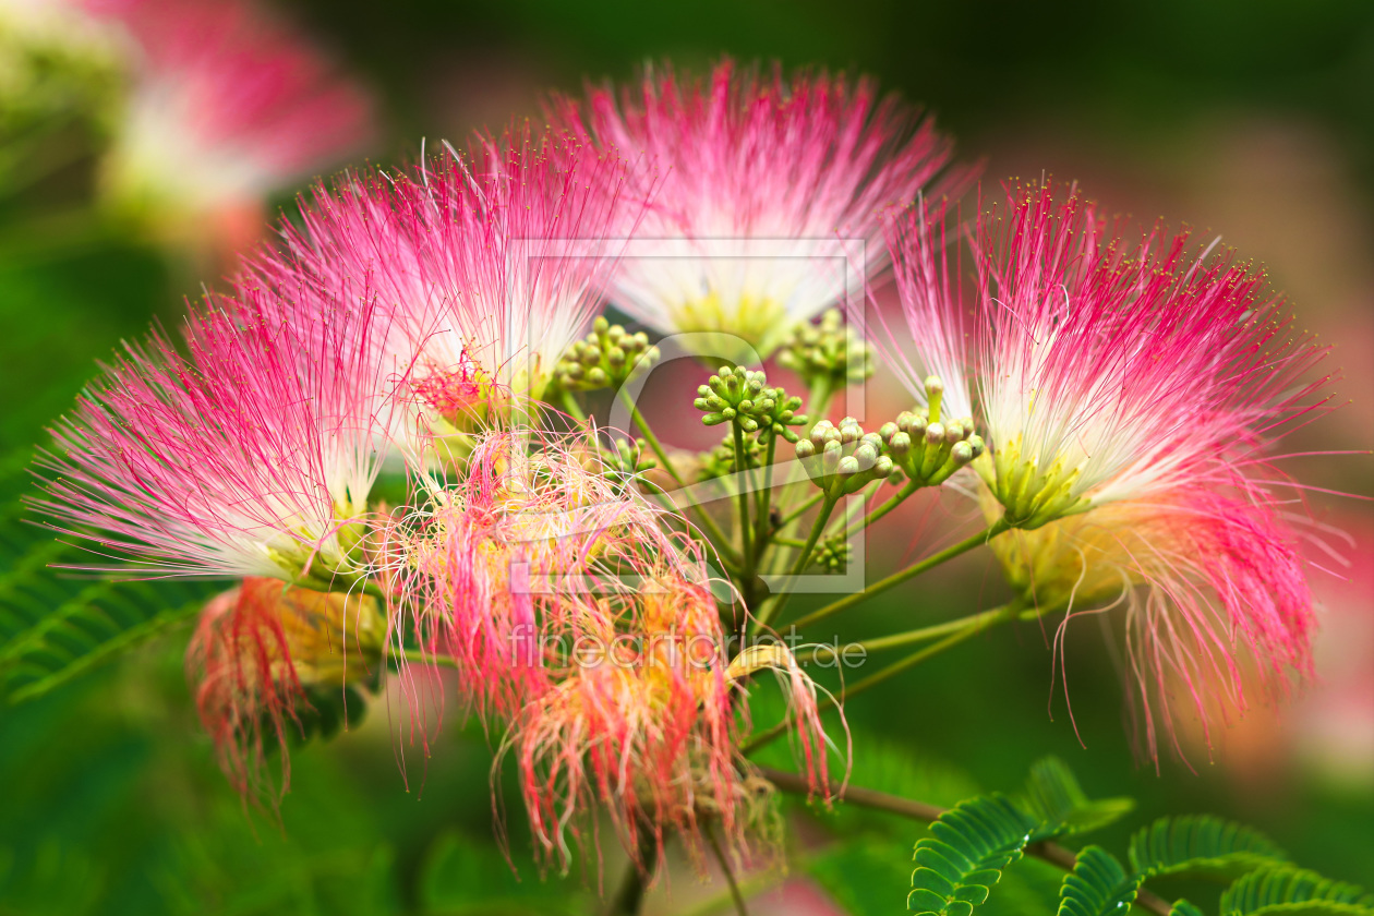
[[[36,505],[140,575],[353,584],[404,383],[375,324],[365,304],[289,323],[269,295],[210,297],[190,357],[126,345],[56,424]]]

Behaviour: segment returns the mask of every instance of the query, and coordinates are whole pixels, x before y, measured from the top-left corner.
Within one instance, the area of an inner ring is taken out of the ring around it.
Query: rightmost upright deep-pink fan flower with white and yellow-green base
[[[1238,464],[1323,409],[1325,354],[1296,334],[1263,273],[1161,225],[1132,242],[1076,192],[1010,188],[978,221],[977,394],[991,455],[974,463],[1035,527]]]

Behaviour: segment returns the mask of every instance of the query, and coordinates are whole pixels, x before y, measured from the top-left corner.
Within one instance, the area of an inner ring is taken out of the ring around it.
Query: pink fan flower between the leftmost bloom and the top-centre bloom
[[[345,176],[302,203],[304,229],[250,264],[294,297],[356,298],[392,316],[389,346],[434,433],[508,416],[543,394],[585,332],[614,264],[624,166],[529,125],[447,150],[409,176]]]

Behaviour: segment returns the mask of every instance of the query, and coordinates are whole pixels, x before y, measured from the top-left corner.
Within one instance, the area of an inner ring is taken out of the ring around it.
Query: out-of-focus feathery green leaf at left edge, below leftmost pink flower
[[[0,680],[19,703],[187,621],[220,586],[202,581],[96,582],[54,600],[67,582],[33,575],[0,596]]]

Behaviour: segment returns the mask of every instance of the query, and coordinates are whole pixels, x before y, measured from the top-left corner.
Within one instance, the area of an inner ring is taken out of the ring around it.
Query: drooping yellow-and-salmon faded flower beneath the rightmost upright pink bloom
[[[1109,503],[991,542],[1024,600],[1069,621],[1124,607],[1125,674],[1143,750],[1176,742],[1173,714],[1230,721],[1312,673],[1312,595],[1294,533],[1256,482]],[[989,520],[1000,514],[984,492]]]

